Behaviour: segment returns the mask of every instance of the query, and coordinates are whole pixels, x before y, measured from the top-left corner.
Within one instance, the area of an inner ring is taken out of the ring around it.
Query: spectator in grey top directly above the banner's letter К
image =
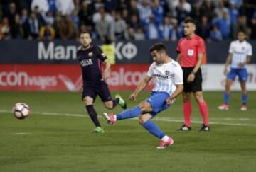
[[[121,18],[120,12],[114,14],[114,40],[128,40],[127,24]]]

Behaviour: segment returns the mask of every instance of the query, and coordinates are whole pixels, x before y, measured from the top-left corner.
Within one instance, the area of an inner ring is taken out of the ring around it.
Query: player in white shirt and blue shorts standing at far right
[[[238,40],[230,43],[229,54],[225,62],[224,74],[227,75],[225,82],[224,103],[218,109],[228,110],[228,101],[230,98],[230,86],[233,84],[235,77],[238,76],[242,89],[242,107],[241,110],[247,110],[247,69],[245,64],[250,62],[252,56],[252,45],[245,40],[245,31],[238,32]],[[231,62],[231,64],[230,64]],[[228,72],[228,64],[230,64],[230,71]]]

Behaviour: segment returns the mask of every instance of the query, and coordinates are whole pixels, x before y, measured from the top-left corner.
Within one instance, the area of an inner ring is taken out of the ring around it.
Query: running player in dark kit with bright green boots
[[[112,109],[117,104],[125,109],[127,105],[119,94],[115,95],[115,99],[112,100],[110,90],[105,82],[105,79],[110,76],[111,64],[100,47],[91,45],[91,42],[92,39],[89,32],[80,33],[82,47],[77,52],[77,58],[82,69],[82,101],[85,103],[87,113],[96,126],[93,132],[104,133],[97,119],[95,108],[93,108],[96,96],[100,96],[107,109]],[[102,64],[105,64],[103,71]]]

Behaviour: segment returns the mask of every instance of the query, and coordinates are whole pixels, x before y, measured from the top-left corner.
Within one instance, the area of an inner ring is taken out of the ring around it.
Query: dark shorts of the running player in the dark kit
[[[82,100],[89,96],[95,101],[97,95],[100,96],[102,102],[111,101],[110,90],[105,81],[100,81],[97,84],[83,84],[82,86]]]

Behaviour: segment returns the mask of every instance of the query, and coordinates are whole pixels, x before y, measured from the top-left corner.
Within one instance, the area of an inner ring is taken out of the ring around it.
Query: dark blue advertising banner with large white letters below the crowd
[[[117,64],[145,64],[151,62],[149,47],[158,41],[116,42]],[[163,42],[169,55],[176,59],[176,42]],[[256,47],[256,41],[251,42]],[[206,42],[207,62],[224,63],[228,55],[230,41]],[[101,42],[93,42],[100,46]],[[75,40],[55,40],[43,42],[36,40],[1,40],[1,64],[72,64],[77,63],[76,51],[80,44]],[[252,57],[252,63],[256,59]]]

